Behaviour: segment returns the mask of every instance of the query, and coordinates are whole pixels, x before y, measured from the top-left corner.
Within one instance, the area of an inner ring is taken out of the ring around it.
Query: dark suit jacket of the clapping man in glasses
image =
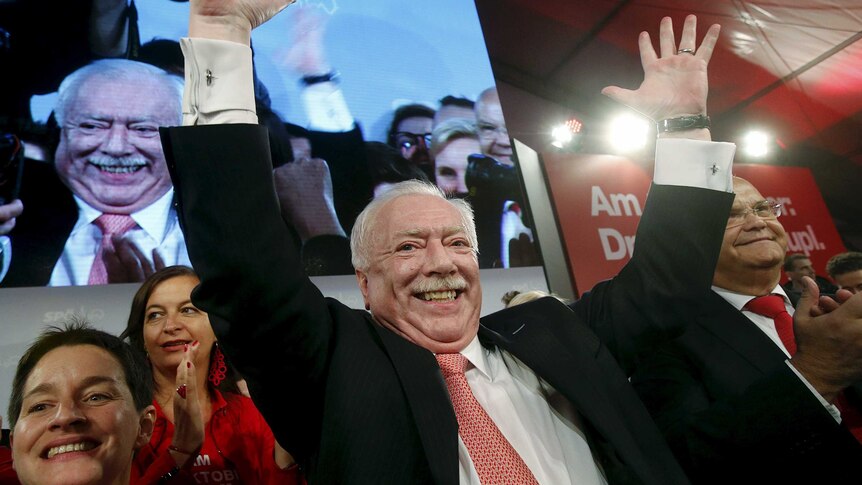
[[[714,292],[693,315],[632,383],[695,483],[862,481],[862,446],[769,337]]]

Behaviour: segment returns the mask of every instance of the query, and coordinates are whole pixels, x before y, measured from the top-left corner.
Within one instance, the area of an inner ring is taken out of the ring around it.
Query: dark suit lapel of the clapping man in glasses
[[[757,325],[715,292],[710,292],[697,323],[764,374],[787,359]]]

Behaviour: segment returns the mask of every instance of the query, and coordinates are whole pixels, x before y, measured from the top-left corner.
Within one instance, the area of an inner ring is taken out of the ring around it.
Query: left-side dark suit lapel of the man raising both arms
[[[373,328],[401,381],[434,481],[458,483],[458,422],[434,354],[390,330]]]

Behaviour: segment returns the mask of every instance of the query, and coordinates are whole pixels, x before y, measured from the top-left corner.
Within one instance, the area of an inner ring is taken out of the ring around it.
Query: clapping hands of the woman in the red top
[[[186,345],[183,360],[177,367],[177,388],[173,396],[174,436],[168,449],[179,467],[193,459],[204,442],[204,418],[198,401],[194,362],[199,349],[197,341]]]

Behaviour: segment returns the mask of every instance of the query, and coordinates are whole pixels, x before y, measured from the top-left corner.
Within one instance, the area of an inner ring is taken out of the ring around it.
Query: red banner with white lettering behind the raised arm
[[[652,179],[652,165],[623,157],[549,153],[542,156],[576,293],[615,275],[631,257]],[[789,252],[809,255],[818,274],[845,251],[807,168],[734,165],[764,197],[783,205]]]

